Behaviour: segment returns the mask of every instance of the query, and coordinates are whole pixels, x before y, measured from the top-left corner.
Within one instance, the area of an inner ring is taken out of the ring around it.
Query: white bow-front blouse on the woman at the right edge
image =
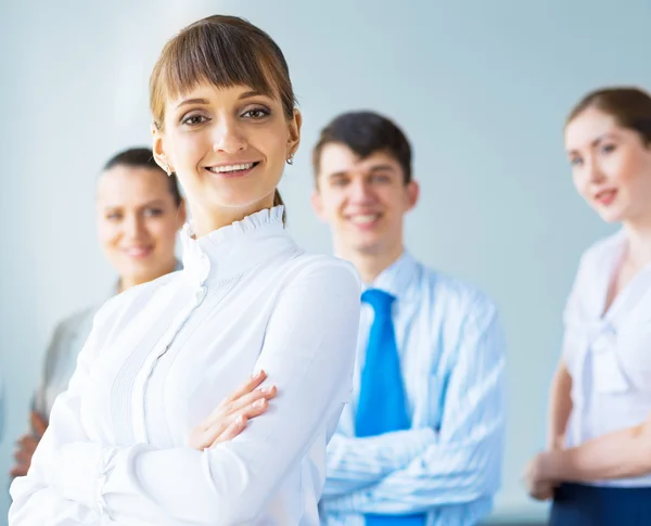
[[[572,375],[569,447],[640,424],[651,414],[651,265],[604,312],[626,244],[620,231],[589,248],[567,300],[563,357]],[[598,484],[651,486],[651,476]]]

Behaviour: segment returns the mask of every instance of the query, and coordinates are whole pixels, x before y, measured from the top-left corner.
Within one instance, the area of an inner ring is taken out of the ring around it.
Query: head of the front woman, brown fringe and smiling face
[[[232,38],[244,29],[247,38]],[[264,31],[238,18],[197,23],[163,49],[150,100],[154,151],[192,195],[199,232],[229,224],[242,210],[282,205],[276,187],[298,146],[302,117],[286,61]],[[204,229],[206,203],[222,206],[225,216]]]

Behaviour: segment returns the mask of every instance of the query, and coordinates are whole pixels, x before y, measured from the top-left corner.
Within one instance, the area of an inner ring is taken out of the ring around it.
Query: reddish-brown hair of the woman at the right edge
[[[637,131],[644,145],[651,145],[651,95],[638,88],[604,88],[584,97],[570,112],[570,124],[593,107],[612,116],[617,125]]]

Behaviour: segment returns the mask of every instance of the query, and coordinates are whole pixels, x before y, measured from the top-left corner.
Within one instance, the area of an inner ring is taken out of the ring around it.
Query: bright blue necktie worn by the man
[[[358,437],[409,429],[400,359],[392,319],[395,297],[378,288],[369,288],[361,300],[373,308],[374,319],[369,334],[361,372],[359,400],[355,419]],[[366,515],[366,526],[423,526],[426,515]]]

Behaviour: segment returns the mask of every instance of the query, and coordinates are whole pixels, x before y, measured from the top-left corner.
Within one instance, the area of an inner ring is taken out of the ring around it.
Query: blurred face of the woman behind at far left
[[[161,170],[115,166],[104,171],[97,218],[100,244],[123,284],[144,283],[174,269],[186,213],[176,206]]]

